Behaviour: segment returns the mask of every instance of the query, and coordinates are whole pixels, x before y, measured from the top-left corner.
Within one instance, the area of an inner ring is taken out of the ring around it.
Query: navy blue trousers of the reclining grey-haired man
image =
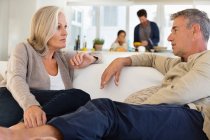
[[[130,105],[95,99],[49,124],[64,140],[208,140],[200,112],[178,105]]]

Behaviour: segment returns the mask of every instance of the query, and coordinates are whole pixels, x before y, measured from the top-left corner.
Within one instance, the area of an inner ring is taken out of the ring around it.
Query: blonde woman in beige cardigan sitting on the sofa
[[[23,119],[26,128],[37,127],[90,100],[89,94],[72,89],[73,69],[100,60],[88,53],[62,52],[66,28],[59,7],[43,7],[33,16],[31,35],[14,49],[0,84],[1,126]]]

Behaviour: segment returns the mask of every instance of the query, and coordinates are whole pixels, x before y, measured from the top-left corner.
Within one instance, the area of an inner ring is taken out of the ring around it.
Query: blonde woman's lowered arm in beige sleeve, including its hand
[[[46,114],[39,102],[30,92],[27,83],[30,49],[23,43],[13,51],[7,69],[7,89],[24,110],[24,124],[27,128],[37,127],[46,123]]]

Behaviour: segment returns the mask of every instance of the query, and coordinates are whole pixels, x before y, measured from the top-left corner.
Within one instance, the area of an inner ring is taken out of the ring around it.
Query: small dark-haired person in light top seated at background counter
[[[128,45],[125,42],[126,32],[119,30],[115,42],[112,43],[110,51],[125,52],[127,51]]]

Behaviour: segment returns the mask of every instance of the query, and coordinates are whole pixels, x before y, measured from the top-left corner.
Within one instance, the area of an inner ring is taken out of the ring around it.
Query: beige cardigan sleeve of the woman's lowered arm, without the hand
[[[7,89],[11,92],[18,104],[26,110],[31,105],[40,105],[31,94],[26,81],[28,53],[23,43],[16,46],[11,54],[7,67]]]

